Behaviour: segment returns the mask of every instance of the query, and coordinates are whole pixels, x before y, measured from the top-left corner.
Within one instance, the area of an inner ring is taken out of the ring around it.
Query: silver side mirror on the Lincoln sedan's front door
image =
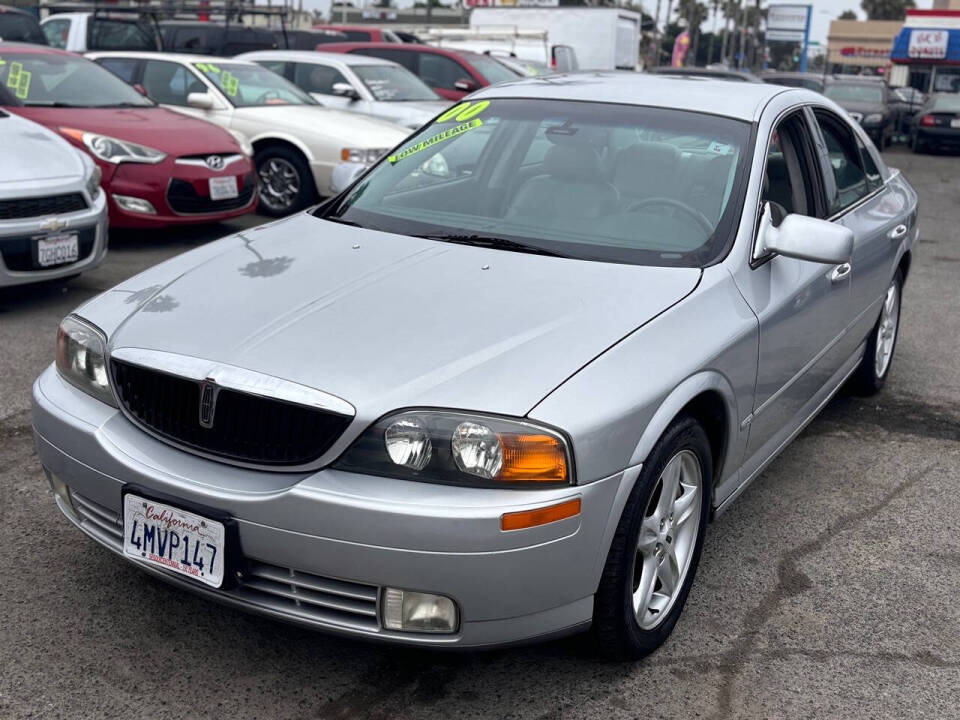
[[[850,262],[853,257],[853,231],[843,225],[806,215],[787,215],[780,227],[773,226],[770,203],[760,218],[760,242],[756,256],[769,253],[826,265]]]

